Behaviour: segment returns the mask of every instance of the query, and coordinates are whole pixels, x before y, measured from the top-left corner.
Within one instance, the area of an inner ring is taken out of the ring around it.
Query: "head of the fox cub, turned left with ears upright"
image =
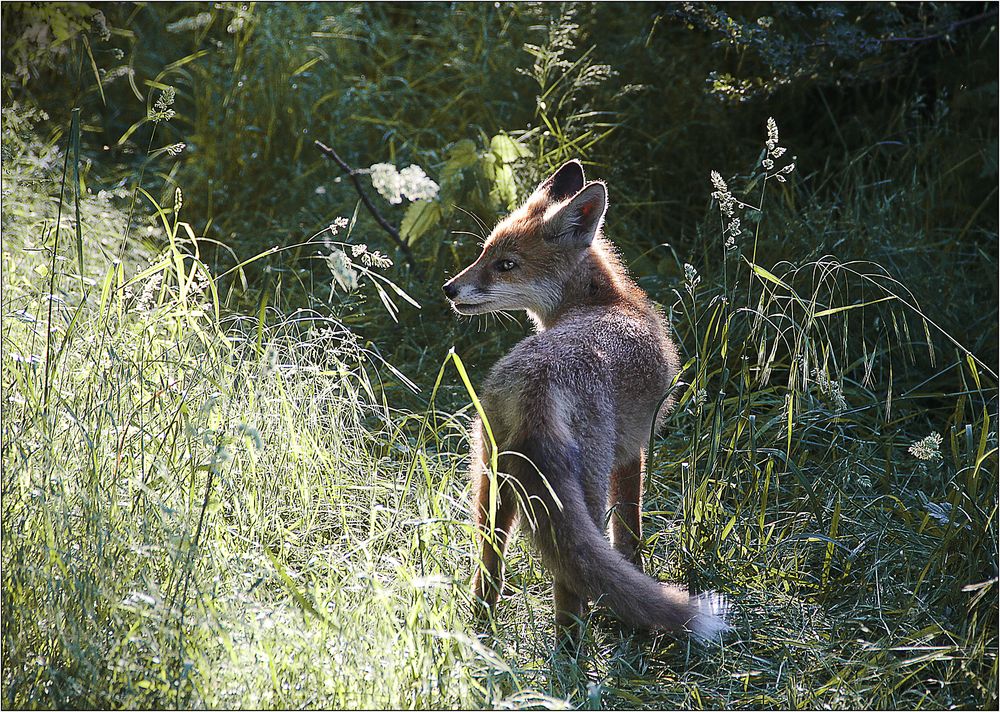
[[[459,314],[524,309],[547,314],[600,234],[608,207],[601,182],[586,183],[570,161],[493,229],[482,254],[444,285]]]

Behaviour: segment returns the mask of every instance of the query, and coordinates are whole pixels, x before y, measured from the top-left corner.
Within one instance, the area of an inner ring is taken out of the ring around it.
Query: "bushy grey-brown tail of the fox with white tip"
[[[517,483],[525,528],[564,585],[638,628],[688,631],[702,640],[717,639],[728,629],[722,596],[692,596],[660,583],[611,546],[587,510],[575,445],[536,434],[511,450],[520,454],[504,455],[500,470]]]

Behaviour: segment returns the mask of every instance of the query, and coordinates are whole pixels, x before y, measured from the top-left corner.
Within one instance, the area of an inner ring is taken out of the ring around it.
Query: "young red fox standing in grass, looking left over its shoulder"
[[[727,629],[725,599],[642,572],[645,445],[679,361],[663,317],[602,234],[607,205],[604,184],[586,183],[570,161],[444,285],[459,314],[524,309],[537,328],[497,362],[481,394],[498,475],[491,492],[490,439],[477,421],[473,593],[495,606],[520,515],[555,579],[556,625],[571,642],[588,600],[636,627],[714,639]]]

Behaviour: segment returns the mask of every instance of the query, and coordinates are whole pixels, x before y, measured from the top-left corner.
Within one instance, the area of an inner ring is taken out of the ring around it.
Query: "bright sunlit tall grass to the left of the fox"
[[[176,213],[163,253],[130,250],[131,274],[89,263],[81,290],[20,219],[51,217],[51,180],[13,163],[5,703],[470,704],[469,670],[497,662],[456,593],[458,460],[414,450],[418,422],[389,409],[365,349],[330,314],[220,320]],[[83,221],[88,254],[123,232],[112,205]],[[58,294],[34,278],[53,262]]]

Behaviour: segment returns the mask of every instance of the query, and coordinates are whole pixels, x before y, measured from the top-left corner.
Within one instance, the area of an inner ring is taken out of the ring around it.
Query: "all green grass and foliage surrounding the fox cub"
[[[995,707],[996,24],[5,3],[4,705]],[[405,250],[315,140],[439,185],[361,175]],[[471,625],[469,385],[527,327],[439,285],[572,157],[677,330],[647,570],[719,647],[553,657],[520,544]]]

